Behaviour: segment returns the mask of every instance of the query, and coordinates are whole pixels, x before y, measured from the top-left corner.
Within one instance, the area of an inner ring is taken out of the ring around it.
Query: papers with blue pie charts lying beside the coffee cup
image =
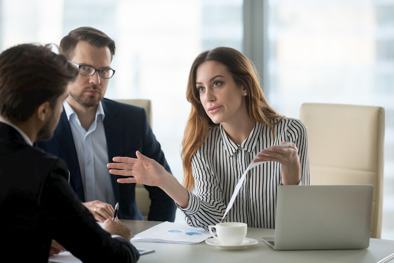
[[[163,222],[136,234],[132,241],[197,244],[208,237],[211,234],[202,228],[190,227],[186,223]]]

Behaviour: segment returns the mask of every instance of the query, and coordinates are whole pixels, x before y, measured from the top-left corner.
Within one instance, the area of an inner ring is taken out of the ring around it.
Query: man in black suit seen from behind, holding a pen
[[[67,165],[33,147],[53,136],[67,85],[77,76],[50,46],[25,44],[0,54],[0,253],[14,261],[48,262],[53,239],[85,262],[139,258],[126,225],[108,219],[100,227],[65,179]]]

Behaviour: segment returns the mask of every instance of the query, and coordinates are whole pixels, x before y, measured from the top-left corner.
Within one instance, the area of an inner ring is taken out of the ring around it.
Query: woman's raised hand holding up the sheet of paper
[[[300,181],[300,159],[298,149],[294,143],[280,142],[279,145],[272,146],[259,152],[254,162],[278,162],[282,166],[282,184],[297,185]]]

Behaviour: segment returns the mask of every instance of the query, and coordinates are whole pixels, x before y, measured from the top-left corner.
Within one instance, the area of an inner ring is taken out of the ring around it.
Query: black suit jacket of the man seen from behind
[[[66,172],[62,160],[0,122],[0,253],[19,262],[48,262],[55,239],[83,262],[136,262],[138,251],[96,223],[64,179]]]

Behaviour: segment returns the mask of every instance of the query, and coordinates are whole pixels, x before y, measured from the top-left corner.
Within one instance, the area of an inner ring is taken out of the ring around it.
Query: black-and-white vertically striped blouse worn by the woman
[[[309,185],[307,129],[300,120],[286,117],[273,128],[272,133],[267,125],[256,122],[241,145],[231,141],[222,125],[209,130],[191,162],[194,190],[189,191],[188,207],[181,208],[188,225],[208,229],[209,225],[219,223],[235,185],[250,162],[258,152],[279,142],[292,142],[297,146],[300,185]],[[265,162],[249,170],[225,221],[275,228],[276,189],[280,183],[281,164],[278,162]]]

